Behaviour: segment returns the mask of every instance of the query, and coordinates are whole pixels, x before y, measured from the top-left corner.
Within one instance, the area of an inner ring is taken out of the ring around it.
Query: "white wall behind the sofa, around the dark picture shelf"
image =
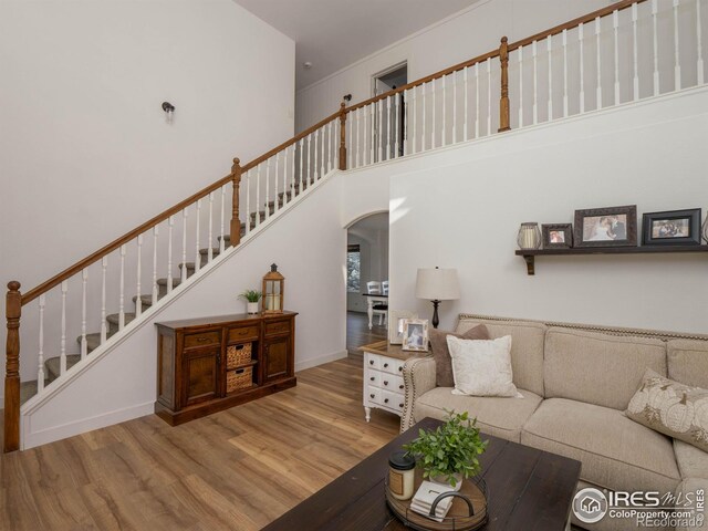
[[[572,222],[575,209],[637,205],[639,223],[705,209],[707,135],[704,87],[392,164],[391,306],[429,315],[416,270],[440,266],[461,284],[442,327],[475,312],[706,333],[702,253],[545,257],[529,277],[514,250],[520,222]]]

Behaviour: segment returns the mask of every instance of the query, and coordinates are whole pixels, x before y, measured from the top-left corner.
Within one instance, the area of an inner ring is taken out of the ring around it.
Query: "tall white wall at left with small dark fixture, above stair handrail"
[[[0,71],[0,280],[23,291],[293,133],[294,42],[231,0],[4,0]]]

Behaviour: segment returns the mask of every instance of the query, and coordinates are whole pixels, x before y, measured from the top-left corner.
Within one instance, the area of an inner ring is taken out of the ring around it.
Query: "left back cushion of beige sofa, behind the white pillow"
[[[499,321],[482,317],[460,319],[456,332],[465,333],[478,324],[487,326],[490,340],[511,336],[513,383],[521,389],[543,395],[543,339],[545,325],[528,321]]]

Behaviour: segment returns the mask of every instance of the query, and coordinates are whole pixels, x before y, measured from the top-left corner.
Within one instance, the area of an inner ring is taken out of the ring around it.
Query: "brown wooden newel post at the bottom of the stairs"
[[[8,341],[4,368],[4,444],[3,451],[20,449],[20,315],[22,294],[20,283],[8,283],[6,316],[8,319]]]

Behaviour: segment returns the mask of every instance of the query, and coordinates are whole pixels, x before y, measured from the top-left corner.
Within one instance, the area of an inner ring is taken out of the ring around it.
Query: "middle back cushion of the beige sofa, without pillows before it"
[[[659,340],[553,327],[545,334],[545,397],[625,409],[646,367],[666,376]]]

